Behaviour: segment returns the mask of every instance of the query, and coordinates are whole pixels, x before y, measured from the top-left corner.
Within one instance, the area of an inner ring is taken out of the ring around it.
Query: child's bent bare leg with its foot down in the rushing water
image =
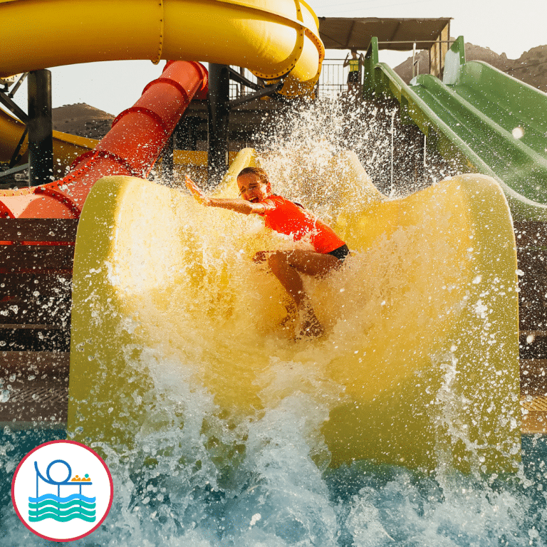
[[[339,262],[330,254],[313,251],[276,251],[269,255],[268,265],[273,275],[291,296],[301,316],[301,335],[320,336],[323,326],[319,322],[310,298],[304,290],[302,278],[298,272],[319,277],[335,269]]]

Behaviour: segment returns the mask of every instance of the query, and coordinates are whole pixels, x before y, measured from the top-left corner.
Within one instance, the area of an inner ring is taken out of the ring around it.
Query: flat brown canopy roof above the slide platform
[[[429,49],[452,17],[442,19],[390,19],[387,17],[319,17],[319,34],[325,49],[365,51],[370,38],[378,38],[378,48],[408,51]],[[450,36],[447,33],[447,36]]]

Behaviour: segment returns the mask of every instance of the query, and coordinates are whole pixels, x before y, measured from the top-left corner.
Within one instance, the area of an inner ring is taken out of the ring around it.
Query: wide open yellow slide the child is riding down
[[[240,152],[220,194],[234,197],[234,174],[255,162]],[[142,179],[95,184],[73,271],[75,439],[131,446],[158,429],[201,427],[217,446],[184,385],[212,393],[207,412],[226,427],[289,400],[301,401],[303,419],[323,412],[309,427],[311,452],[334,467],[514,469],[517,266],[499,185],[465,174],[388,199],[353,152],[329,168],[335,189],[316,188],[305,205],[328,202],[353,254],[332,276],[306,281],[327,333],[298,343],[280,325],[281,286],[251,260],[293,242],[259,217]]]

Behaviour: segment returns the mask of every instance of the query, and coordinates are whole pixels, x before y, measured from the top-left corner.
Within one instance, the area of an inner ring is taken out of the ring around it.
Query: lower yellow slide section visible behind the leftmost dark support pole
[[[24,123],[6,113],[0,108],[0,162],[9,162],[14,150],[25,130]],[[68,135],[61,131],[53,131],[53,157],[56,159],[56,169],[64,174],[67,167],[83,152],[93,150],[99,141],[86,137]],[[21,159],[16,165],[28,162],[28,137],[25,137],[19,150]]]

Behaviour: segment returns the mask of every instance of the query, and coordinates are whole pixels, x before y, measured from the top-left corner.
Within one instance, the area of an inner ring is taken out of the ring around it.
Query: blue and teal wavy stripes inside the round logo
[[[53,519],[67,522],[72,519],[95,521],[95,498],[83,494],[71,494],[61,498],[55,494],[43,494],[38,498],[28,498],[28,520],[30,522]]]

